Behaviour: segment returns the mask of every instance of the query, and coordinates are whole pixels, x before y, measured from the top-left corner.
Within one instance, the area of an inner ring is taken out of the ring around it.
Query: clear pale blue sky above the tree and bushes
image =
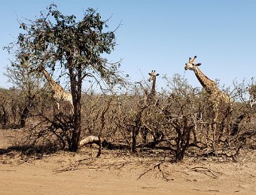
[[[93,7],[108,19],[116,32],[117,43],[108,59],[123,59],[121,70],[132,81],[148,79],[156,70],[161,76],[181,74],[192,86],[200,86],[194,73],[184,71],[188,57],[197,55],[200,69],[221,85],[256,76],[256,1],[254,0],[4,0],[0,1],[0,87],[11,87],[3,76],[11,55],[7,46],[17,37],[21,20],[35,20],[50,3],[66,14],[82,19],[84,10]],[[157,86],[165,87],[161,77]]]

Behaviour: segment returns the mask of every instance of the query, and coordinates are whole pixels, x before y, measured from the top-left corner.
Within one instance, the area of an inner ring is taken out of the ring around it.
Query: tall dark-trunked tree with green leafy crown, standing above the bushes
[[[99,85],[113,86],[123,82],[118,68],[102,54],[110,54],[116,45],[114,31],[106,31],[108,20],[102,20],[96,10],[89,8],[84,18],[77,21],[75,15],[65,16],[51,4],[47,13],[35,21],[20,22],[15,54],[29,63],[31,70],[43,66],[52,71],[61,70],[70,82],[74,116],[70,151],[78,151],[81,134],[81,89],[83,80],[92,77]],[[14,45],[8,46],[8,51]]]

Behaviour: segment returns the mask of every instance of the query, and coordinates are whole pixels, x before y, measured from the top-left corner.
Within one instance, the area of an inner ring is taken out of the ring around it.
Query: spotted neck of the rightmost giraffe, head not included
[[[204,75],[197,66],[194,68],[194,73],[196,74],[197,80],[199,80],[206,92],[213,94],[216,90],[218,90],[216,83],[206,77],[206,75]]]

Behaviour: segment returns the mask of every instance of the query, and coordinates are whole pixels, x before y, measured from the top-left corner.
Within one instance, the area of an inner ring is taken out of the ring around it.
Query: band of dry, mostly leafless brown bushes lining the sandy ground
[[[236,100],[233,109],[221,106],[217,131],[214,132],[212,105],[206,92],[194,89],[175,75],[166,80],[168,90],[147,101],[146,83],[130,87],[125,94],[104,95],[85,92],[81,110],[81,143],[96,144],[109,150],[136,154],[157,153],[169,161],[187,157],[228,157],[236,160],[241,148],[254,149],[256,134],[255,107],[246,101],[247,87],[239,85],[230,92]],[[243,86],[243,88],[242,88]],[[73,119],[69,107],[61,104],[53,113],[53,101],[41,90],[32,101],[23,127],[23,137],[14,148],[30,152],[54,152],[70,146]],[[2,128],[20,128],[24,124],[26,93],[2,90]],[[225,122],[230,117],[230,123]],[[227,130],[230,126],[230,132]],[[149,153],[145,153],[145,151]]]

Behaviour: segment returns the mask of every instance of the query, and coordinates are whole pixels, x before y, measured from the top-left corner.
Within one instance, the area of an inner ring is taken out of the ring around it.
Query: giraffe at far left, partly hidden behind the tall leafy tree
[[[42,65],[39,66],[38,71],[44,74],[45,79],[50,85],[50,89],[53,93],[53,100],[56,103],[57,110],[59,111],[59,103],[61,101],[67,102],[69,104],[69,107],[71,107],[72,113],[74,110],[73,107],[73,101],[72,101],[72,94],[69,92],[66,92],[62,86],[60,86],[58,83],[56,83],[52,77],[50,77],[50,74],[44,69]]]

